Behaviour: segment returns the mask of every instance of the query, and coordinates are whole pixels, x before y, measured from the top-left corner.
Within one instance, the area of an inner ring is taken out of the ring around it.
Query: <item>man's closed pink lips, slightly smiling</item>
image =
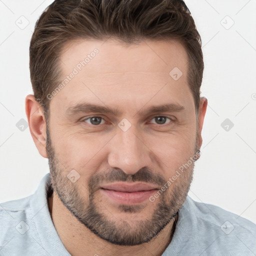
[[[100,188],[103,195],[107,196],[110,200],[126,205],[142,203],[157,190],[155,186],[144,183],[115,183],[103,185]]]

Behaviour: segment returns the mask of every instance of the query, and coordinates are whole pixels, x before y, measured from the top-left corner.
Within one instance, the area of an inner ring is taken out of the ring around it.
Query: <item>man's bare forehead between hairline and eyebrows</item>
[[[116,104],[116,97],[140,107],[138,102],[153,94],[153,100],[166,97],[172,102],[165,103],[179,103],[189,92],[187,53],[177,40],[125,46],[113,39],[80,39],[67,43],[59,59],[63,86],[52,101],[66,108],[86,100]]]

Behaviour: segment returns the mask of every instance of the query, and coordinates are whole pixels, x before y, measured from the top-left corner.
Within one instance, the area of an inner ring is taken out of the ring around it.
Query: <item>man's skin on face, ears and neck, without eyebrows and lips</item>
[[[40,104],[33,95],[26,96],[32,138],[49,159],[49,211],[71,255],[161,255],[189,190],[194,163],[153,202],[123,205],[104,195],[100,186],[124,180],[160,188],[200,148],[207,99],[200,98],[197,123],[187,84],[187,54],[175,40],[146,40],[128,47],[110,39],[69,42],[60,56],[60,80],[94,48],[98,54],[50,100],[47,125]],[[178,80],[169,75],[175,66],[183,73]],[[120,115],[67,115],[67,108],[78,102],[116,108]],[[165,103],[183,110],[141,112]],[[102,117],[100,124],[93,125],[92,116]],[[167,118],[157,124],[157,116]],[[131,125],[126,131],[118,126],[123,118]],[[80,175],[74,183],[67,178],[72,169]]]

